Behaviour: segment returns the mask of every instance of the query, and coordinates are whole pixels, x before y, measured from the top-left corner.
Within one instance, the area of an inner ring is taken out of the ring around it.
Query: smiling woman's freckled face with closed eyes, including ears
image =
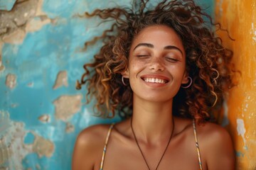
[[[172,101],[186,84],[186,54],[181,39],[167,26],[148,26],[132,41],[129,78],[134,97],[146,101]]]

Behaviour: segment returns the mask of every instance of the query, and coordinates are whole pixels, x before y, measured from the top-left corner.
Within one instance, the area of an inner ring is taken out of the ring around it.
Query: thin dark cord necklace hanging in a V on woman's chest
[[[166,148],[164,149],[164,153],[161,155],[161,158],[160,158],[160,160],[159,160],[159,163],[158,163],[157,166],[156,166],[156,169],[159,167],[159,164],[160,164],[161,160],[163,159],[164,154],[166,153],[166,150],[167,150],[167,148],[168,148],[168,146],[169,146],[169,143],[171,142],[171,137],[172,137],[172,135],[174,134],[174,119],[173,119],[173,118],[172,118],[172,123],[173,123],[173,125],[172,125],[172,130],[171,130],[171,135],[170,135],[169,141],[168,141],[168,143],[167,143],[167,145],[166,145]],[[137,137],[136,137],[136,135],[135,135],[135,133],[134,133],[134,129],[133,129],[133,127],[132,127],[132,118],[131,118],[131,128],[132,128],[132,134],[133,134],[133,136],[134,136],[134,140],[135,140],[135,142],[136,142],[136,144],[137,144],[137,146],[138,146],[138,148],[139,148],[139,151],[140,151],[141,154],[142,154],[142,157],[143,157],[143,159],[144,159],[144,161],[145,161],[145,163],[146,163],[146,166],[147,166],[148,169],[150,170],[149,164],[146,162],[146,158],[145,158],[145,156],[144,156],[144,154],[143,154],[143,152],[142,152],[141,147],[139,147],[139,142],[138,142]],[[156,170],[156,169],[155,169],[155,170]]]

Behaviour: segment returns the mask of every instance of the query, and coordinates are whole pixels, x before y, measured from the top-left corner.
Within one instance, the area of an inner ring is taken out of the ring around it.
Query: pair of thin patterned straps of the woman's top
[[[112,123],[112,125],[110,125],[110,128],[109,128],[109,130],[107,132],[107,137],[106,137],[106,141],[105,141],[105,145],[104,145],[104,149],[103,149],[103,153],[102,153],[102,161],[100,163],[100,170],[103,170],[105,154],[106,154],[106,151],[107,151],[107,142],[108,142],[108,140],[110,138],[110,133],[111,133],[113,127],[114,127],[114,123]],[[200,170],[203,170],[202,162],[201,162],[201,154],[200,154],[200,149],[199,149],[198,139],[197,139],[197,134],[196,134],[196,123],[195,123],[194,119],[193,119],[193,133],[194,133],[195,141],[196,141],[196,150],[197,150],[197,154],[198,154],[199,167],[200,167]]]

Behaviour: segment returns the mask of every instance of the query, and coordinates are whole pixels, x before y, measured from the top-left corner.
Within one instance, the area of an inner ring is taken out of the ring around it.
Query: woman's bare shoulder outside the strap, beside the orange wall
[[[215,123],[196,125],[196,130],[208,169],[235,169],[233,141],[228,131]]]

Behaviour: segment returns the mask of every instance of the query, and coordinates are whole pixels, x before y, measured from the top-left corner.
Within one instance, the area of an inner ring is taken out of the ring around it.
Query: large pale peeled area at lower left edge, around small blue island
[[[9,163],[9,169],[23,169],[22,160],[32,152],[36,152],[39,157],[51,157],[54,152],[53,142],[46,140],[36,134],[36,132],[25,130],[23,123],[11,121],[7,111],[0,111],[1,122],[9,124],[4,130],[0,130],[0,164]],[[24,139],[28,133],[35,136],[32,144],[26,145]]]

